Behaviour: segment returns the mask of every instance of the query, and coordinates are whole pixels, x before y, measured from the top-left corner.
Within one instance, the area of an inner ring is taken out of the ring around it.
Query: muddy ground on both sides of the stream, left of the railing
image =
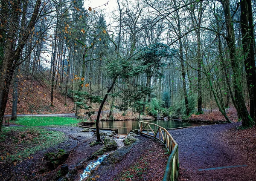
[[[82,128],[73,126],[44,127],[53,131],[64,132],[66,141],[46,150],[41,150],[30,159],[14,165],[0,164],[0,180],[2,181],[54,181],[59,178],[61,165],[55,169],[49,169],[44,154],[58,152],[64,149],[70,152],[69,157],[63,164],[68,165],[70,172],[76,171],[70,180],[79,181],[84,168],[95,160],[88,158],[102,147],[101,144],[90,147],[90,143],[96,140],[93,132],[82,132]],[[114,157],[115,163],[104,162],[90,178],[97,175],[96,180],[102,181],[131,181],[147,180],[160,181],[164,172],[168,154],[157,141],[143,136],[137,137],[131,146],[125,146],[118,150]],[[79,163],[82,163],[79,164]],[[159,167],[162,165],[162,167]],[[75,168],[76,167],[76,168]],[[43,171],[42,171],[43,170]],[[75,175],[75,176],[74,176]],[[99,177],[99,178],[98,178]],[[90,178],[88,180],[90,180]],[[142,179],[143,178],[143,179]]]

